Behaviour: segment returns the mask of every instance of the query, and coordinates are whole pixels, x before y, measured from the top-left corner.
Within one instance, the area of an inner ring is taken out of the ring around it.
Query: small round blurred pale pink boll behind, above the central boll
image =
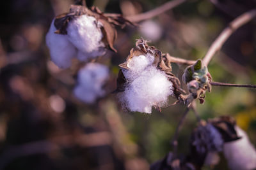
[[[147,20],[140,26],[140,33],[143,35],[143,37],[152,41],[157,41],[160,39],[162,32],[161,26],[152,20]]]

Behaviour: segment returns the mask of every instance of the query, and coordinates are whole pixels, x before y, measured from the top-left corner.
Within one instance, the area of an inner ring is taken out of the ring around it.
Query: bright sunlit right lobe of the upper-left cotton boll
[[[100,27],[102,24],[88,15],[81,15],[68,23],[68,39],[82,52],[79,60],[98,57],[106,52]]]

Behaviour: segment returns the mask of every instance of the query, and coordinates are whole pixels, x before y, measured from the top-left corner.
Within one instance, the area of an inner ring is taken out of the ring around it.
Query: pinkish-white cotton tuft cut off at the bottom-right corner
[[[232,170],[251,170],[256,168],[256,151],[246,134],[236,126],[236,132],[241,139],[224,144],[223,152]]]

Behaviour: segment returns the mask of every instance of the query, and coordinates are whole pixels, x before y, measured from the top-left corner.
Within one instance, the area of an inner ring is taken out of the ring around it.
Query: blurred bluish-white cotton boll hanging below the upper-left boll
[[[78,73],[75,96],[84,103],[94,103],[97,98],[104,96],[105,90],[102,86],[108,77],[108,67],[97,63],[87,64]]]

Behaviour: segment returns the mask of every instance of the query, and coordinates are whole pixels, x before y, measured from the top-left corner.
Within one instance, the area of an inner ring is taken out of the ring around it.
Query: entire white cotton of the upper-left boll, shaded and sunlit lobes
[[[67,35],[56,34],[54,20],[46,36],[46,44],[50,50],[54,64],[63,69],[70,67],[74,57],[87,61],[104,55],[105,45],[100,29],[102,24],[94,17],[81,15],[68,22]]]

